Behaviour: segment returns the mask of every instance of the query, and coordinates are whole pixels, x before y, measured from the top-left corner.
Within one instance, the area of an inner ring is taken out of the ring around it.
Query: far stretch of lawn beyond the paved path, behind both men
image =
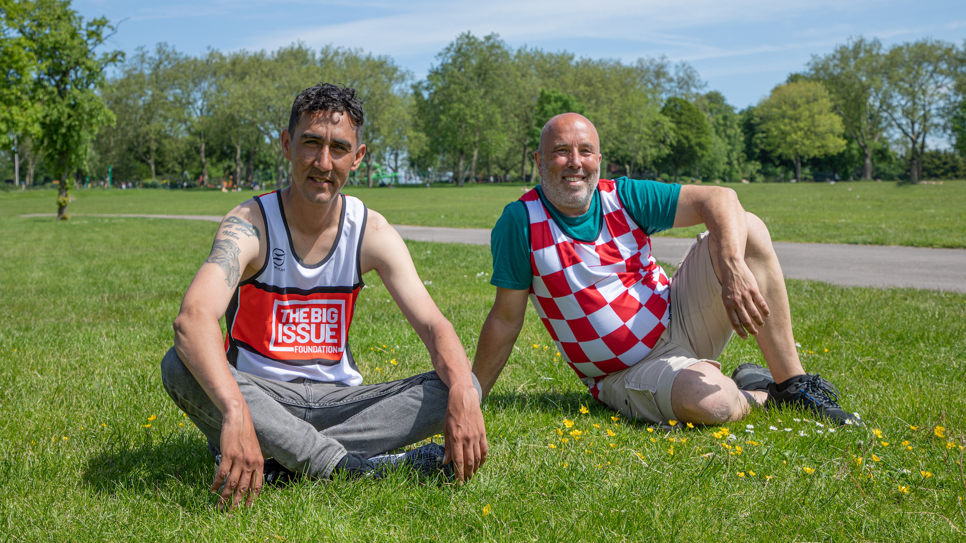
[[[895,183],[728,184],[745,209],[760,216],[776,241],[966,247],[966,182],[896,186]],[[411,186],[346,192],[394,224],[492,228],[521,186]],[[76,214],[224,214],[252,192],[215,190],[77,190]],[[15,210],[14,210],[15,208]],[[53,192],[0,194],[0,210],[50,213]],[[693,237],[701,227],[663,235]]]

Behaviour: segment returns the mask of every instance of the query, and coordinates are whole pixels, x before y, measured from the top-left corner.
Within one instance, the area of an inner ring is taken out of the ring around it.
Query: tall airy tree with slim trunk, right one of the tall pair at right
[[[902,43],[886,57],[886,81],[893,92],[886,112],[909,146],[909,182],[923,176],[925,139],[941,126],[942,112],[952,98],[955,47],[921,40]]]

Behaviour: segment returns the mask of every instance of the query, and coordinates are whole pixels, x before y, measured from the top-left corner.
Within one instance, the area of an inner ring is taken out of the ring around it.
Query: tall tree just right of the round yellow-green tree
[[[885,60],[878,40],[858,38],[809,63],[810,79],[829,91],[845,132],[863,151],[864,180],[872,179],[872,151],[889,127],[892,87],[886,84]]]

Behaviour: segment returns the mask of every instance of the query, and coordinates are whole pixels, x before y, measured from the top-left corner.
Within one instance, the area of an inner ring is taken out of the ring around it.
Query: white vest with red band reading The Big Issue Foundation
[[[335,243],[313,265],[296,254],[281,192],[255,197],[265,219],[266,262],[239,284],[225,313],[225,351],[240,371],[276,381],[362,383],[349,350],[349,326],[362,288],[359,250],[367,212],[358,198],[339,197]]]

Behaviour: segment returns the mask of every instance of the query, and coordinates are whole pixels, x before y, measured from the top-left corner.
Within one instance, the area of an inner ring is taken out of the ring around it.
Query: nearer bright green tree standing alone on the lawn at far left
[[[23,2],[11,21],[33,55],[37,76],[31,85],[34,103],[43,103],[39,130],[44,158],[62,175],[57,197],[57,218],[67,218],[72,174],[85,169],[91,143],[100,127],[114,122],[114,114],[97,89],[104,70],[124,59],[124,53],[95,53],[113,30],[106,18],[84,22],[71,10],[69,0]]]

